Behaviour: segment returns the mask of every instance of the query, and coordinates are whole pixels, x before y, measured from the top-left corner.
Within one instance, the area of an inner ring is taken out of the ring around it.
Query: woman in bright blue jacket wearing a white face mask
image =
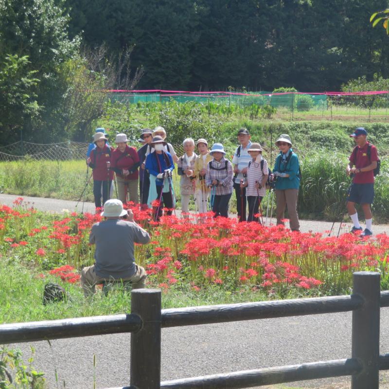
[[[150,143],[155,152],[146,157],[146,170],[150,174],[150,189],[148,204],[152,205],[154,200],[159,200],[155,218],[158,219],[162,214],[162,208],[168,208],[168,215],[172,214],[175,206],[173,186],[171,185],[174,163],[170,153],[164,151],[166,142],[160,137],[155,136]]]

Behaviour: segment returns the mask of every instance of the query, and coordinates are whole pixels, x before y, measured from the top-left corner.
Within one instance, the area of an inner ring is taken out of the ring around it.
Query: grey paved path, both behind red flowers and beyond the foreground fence
[[[12,205],[18,196],[0,195],[0,203]],[[24,197],[41,211],[61,213],[76,210],[74,201]],[[77,209],[81,211],[82,204]],[[94,212],[86,203],[84,212]],[[332,223],[301,221],[302,231],[324,232]],[[336,224],[338,228],[339,224]],[[374,225],[374,232],[388,231],[388,225]],[[346,226],[349,228],[349,225]],[[337,230],[336,230],[337,232]],[[351,313],[250,320],[162,330],[162,380],[229,371],[298,364],[351,356]],[[381,311],[380,352],[389,352],[385,326],[389,309]],[[91,336],[32,343],[34,366],[46,372],[49,388],[93,387],[93,355],[96,355],[98,389],[129,385],[130,336]],[[20,343],[25,355],[29,345]],[[55,383],[55,371],[59,384]],[[380,388],[389,388],[389,376],[382,373]],[[333,378],[285,384],[271,388],[350,388],[349,378]]]

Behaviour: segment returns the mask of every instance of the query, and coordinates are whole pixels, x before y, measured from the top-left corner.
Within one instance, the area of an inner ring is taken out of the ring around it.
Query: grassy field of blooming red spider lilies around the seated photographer
[[[356,270],[378,269],[382,288],[388,286],[386,234],[327,237],[211,215],[154,222],[149,210],[132,210],[151,235],[148,245],[136,245],[137,263],[147,270],[148,286],[162,289],[164,306],[349,293]],[[12,208],[0,206],[3,322],[128,311],[125,293],[98,292],[86,301],[81,292],[80,270],[94,261],[89,231],[100,220],[37,212],[22,198]],[[40,308],[48,282],[63,285],[70,300]],[[26,307],[30,314],[15,313]]]

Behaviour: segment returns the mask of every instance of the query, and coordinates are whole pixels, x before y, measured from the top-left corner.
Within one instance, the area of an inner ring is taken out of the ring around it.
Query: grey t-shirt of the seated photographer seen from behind
[[[150,235],[137,224],[107,219],[92,226],[89,243],[96,244],[96,275],[128,278],[135,274],[134,243],[150,242]]]

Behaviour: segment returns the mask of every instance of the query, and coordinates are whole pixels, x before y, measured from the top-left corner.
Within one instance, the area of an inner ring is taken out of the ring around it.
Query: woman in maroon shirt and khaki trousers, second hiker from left
[[[111,157],[111,168],[116,174],[118,196],[124,204],[128,201],[139,202],[139,156],[135,147],[128,146],[127,142],[127,135],[117,134],[115,139],[117,148],[113,151]]]

